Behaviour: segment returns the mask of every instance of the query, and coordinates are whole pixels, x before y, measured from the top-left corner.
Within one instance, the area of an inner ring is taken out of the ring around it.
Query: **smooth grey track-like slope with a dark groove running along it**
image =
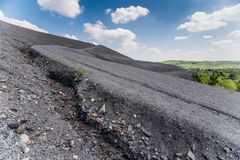
[[[49,46],[33,46],[72,68],[82,67],[91,78],[115,94],[152,106],[170,118],[187,121],[207,134],[240,144],[240,94],[195,82],[99,60]]]

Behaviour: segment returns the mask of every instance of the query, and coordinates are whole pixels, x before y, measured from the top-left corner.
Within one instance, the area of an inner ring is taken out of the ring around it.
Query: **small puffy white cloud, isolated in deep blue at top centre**
[[[115,12],[111,13],[113,23],[127,23],[135,21],[139,17],[147,16],[150,11],[141,6],[130,6],[128,8],[117,8]]]

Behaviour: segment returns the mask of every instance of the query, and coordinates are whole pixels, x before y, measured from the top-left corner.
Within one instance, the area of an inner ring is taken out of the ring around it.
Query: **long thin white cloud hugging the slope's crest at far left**
[[[28,22],[26,20],[18,20],[18,19],[8,18],[4,15],[4,13],[1,10],[0,10],[0,20],[10,23],[10,24],[13,24],[13,25],[28,28],[28,29],[31,29],[34,31],[48,33],[46,30],[44,30],[44,29],[38,27],[37,25],[32,24],[31,22]]]

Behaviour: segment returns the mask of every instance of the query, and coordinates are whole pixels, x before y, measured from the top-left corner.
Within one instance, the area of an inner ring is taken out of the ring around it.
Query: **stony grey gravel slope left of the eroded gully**
[[[125,159],[97,130],[76,119],[72,88],[48,79],[20,52],[44,40],[23,39],[15,29],[0,23],[0,159]]]

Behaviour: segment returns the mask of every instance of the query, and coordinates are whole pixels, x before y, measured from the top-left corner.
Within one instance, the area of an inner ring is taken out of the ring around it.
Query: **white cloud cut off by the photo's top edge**
[[[75,18],[81,13],[78,0],[37,0],[42,9],[65,17]]]

